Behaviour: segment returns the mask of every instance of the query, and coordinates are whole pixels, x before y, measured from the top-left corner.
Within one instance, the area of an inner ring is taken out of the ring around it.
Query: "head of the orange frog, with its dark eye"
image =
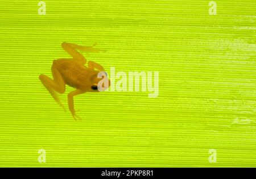
[[[92,82],[90,92],[104,91],[110,86],[110,80],[106,72],[97,72],[90,78],[90,81]]]

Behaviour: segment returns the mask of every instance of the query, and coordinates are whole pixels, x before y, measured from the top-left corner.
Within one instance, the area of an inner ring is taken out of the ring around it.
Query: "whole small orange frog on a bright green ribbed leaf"
[[[75,120],[81,118],[75,113],[73,97],[85,92],[102,91],[107,89],[110,85],[105,69],[100,64],[93,61],[88,61],[88,67],[84,66],[86,64],[86,59],[77,51],[77,49],[86,53],[103,51],[101,49],[93,48],[94,45],[81,46],[65,42],[62,43],[61,46],[63,49],[73,58],[53,60],[51,68],[53,80],[44,74],[40,74],[39,76],[42,84],[63,109],[64,106],[60,102],[56,91],[63,94],[65,92],[66,84],[76,88],[76,90],[71,91],[71,93],[68,94],[68,108]],[[99,76],[99,74],[101,75]]]

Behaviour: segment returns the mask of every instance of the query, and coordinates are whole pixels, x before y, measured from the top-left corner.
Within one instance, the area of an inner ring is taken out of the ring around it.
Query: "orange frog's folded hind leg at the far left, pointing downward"
[[[61,76],[60,72],[57,70],[55,66],[55,60],[53,60],[52,64],[52,76],[53,80],[44,74],[40,74],[39,79],[41,80],[42,84],[46,87],[55,101],[64,109],[63,104],[60,102],[59,96],[56,94],[56,91],[60,94],[65,92],[65,82],[63,77]],[[66,111],[64,109],[64,111]]]

